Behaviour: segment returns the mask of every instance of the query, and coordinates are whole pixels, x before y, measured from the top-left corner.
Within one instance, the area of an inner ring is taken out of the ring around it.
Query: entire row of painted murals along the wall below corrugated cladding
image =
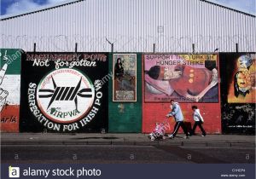
[[[197,105],[210,133],[255,132],[255,53],[108,55],[1,49],[1,131],[150,132],[173,99],[188,125]]]

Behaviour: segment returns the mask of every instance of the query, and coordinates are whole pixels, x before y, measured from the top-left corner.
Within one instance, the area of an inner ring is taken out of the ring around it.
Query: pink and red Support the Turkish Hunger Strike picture
[[[217,55],[144,55],[145,102],[218,102]]]

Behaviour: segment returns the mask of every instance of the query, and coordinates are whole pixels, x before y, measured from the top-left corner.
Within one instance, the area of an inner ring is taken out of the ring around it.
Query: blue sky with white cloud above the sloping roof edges
[[[26,13],[32,9],[40,8],[44,5],[54,5],[67,0],[0,0],[1,15]],[[251,14],[256,14],[255,0],[210,0],[212,2],[223,3],[225,6],[241,9]]]

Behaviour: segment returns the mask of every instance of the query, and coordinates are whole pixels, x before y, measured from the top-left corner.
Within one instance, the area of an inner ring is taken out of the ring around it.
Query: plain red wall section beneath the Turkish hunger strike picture
[[[184,121],[193,127],[195,123],[192,117],[191,107],[196,105],[201,110],[201,115],[204,118],[204,129],[208,134],[216,134],[221,132],[221,115],[220,106],[218,103],[181,103],[180,107],[183,111]],[[143,133],[149,133],[154,129],[156,122],[166,120],[166,114],[170,112],[170,104],[168,103],[144,103],[143,104]],[[171,133],[175,124],[174,118],[167,119],[166,132]],[[169,124],[169,126],[168,126]],[[183,132],[183,130],[179,130]],[[195,133],[201,132],[199,128]]]

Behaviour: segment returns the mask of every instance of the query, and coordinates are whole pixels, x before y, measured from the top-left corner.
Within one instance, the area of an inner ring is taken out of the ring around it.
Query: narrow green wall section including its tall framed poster
[[[133,90],[133,95],[131,97],[132,100],[136,101],[126,101],[131,100],[127,99],[125,96],[122,97],[122,101],[113,101],[113,95],[115,95],[115,91],[118,88],[118,85],[121,84],[120,80],[113,77],[113,80],[109,80],[109,89],[108,89],[108,132],[142,132],[142,116],[143,116],[143,92],[142,92],[142,54],[109,54],[109,72],[113,72],[117,59],[126,59],[126,64],[122,63],[124,66],[128,66],[131,72],[129,74],[136,74],[134,76],[130,76],[128,81],[125,83],[128,86],[131,86],[130,89]],[[136,64],[134,64],[134,62]],[[135,67],[137,69],[135,69]],[[124,67],[125,68],[125,67]],[[124,70],[125,71],[125,70]],[[132,78],[131,78],[132,77]],[[119,81],[118,81],[119,80]],[[134,81],[136,80],[136,82]],[[136,85],[134,85],[136,83]],[[111,88],[113,87],[113,88]],[[129,90],[129,88],[128,88]],[[125,99],[126,98],[126,99]],[[116,100],[116,99],[115,99]]]

